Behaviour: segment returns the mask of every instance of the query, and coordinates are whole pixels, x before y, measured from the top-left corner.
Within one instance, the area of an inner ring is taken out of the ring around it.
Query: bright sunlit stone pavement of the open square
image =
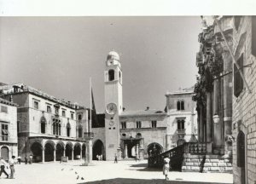
[[[233,183],[232,174],[170,172],[170,181],[164,180],[161,170],[148,169],[147,160],[140,162],[119,161],[118,164],[107,161],[95,161],[90,166],[80,166],[81,161],[59,164],[20,164],[15,165],[15,179],[4,179],[0,183],[17,184],[73,184],[73,183]],[[83,179],[81,179],[83,178]]]

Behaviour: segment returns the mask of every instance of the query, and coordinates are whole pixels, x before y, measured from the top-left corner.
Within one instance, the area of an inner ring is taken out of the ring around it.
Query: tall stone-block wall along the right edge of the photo
[[[235,16],[233,25],[232,50],[245,78],[243,81],[233,65],[234,183],[253,184],[256,181],[256,18]]]

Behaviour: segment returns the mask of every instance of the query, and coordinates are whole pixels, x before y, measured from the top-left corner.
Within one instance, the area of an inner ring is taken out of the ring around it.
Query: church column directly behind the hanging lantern
[[[223,127],[223,114],[221,112],[221,88],[220,79],[215,78],[213,83],[213,113],[218,114],[218,124],[213,124],[213,153],[220,154],[222,151],[223,140],[222,140],[222,127]]]

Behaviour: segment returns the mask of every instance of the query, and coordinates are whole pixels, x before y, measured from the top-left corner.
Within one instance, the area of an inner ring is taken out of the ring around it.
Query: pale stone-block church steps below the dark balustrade
[[[230,159],[212,154],[183,154],[183,172],[220,172],[231,173],[232,163]]]

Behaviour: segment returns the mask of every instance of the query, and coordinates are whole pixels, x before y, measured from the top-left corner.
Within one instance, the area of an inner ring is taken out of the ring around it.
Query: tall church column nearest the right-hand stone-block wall
[[[232,45],[231,45],[232,46]],[[224,73],[232,71],[233,62],[229,52],[223,53],[224,60]],[[232,135],[232,74],[224,76],[224,137],[227,139],[228,135]],[[232,142],[225,142],[225,154],[231,154],[232,152]]]

